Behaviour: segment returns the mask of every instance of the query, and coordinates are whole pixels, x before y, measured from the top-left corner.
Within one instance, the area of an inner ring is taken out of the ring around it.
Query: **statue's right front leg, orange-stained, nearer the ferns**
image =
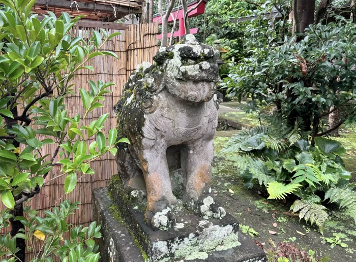
[[[226,212],[211,193],[214,145],[212,139],[200,139],[182,152],[185,206],[204,217],[222,218]]]

